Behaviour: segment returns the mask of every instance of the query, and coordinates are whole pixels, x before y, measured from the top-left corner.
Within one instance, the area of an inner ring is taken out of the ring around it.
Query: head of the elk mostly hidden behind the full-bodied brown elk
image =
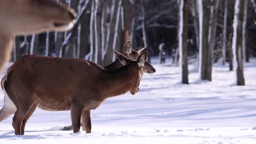
[[[138,49],[136,49],[136,50],[133,50],[132,49],[132,43],[131,43],[131,41],[129,40],[129,41],[127,41],[126,43],[125,43],[125,53],[124,53],[124,55],[127,57],[127,58],[129,58],[129,59],[131,59],[131,60],[133,60],[133,61],[135,61],[137,58],[138,58],[138,56],[140,55],[140,53],[143,51],[143,50],[145,50],[146,49],[146,47],[140,47],[140,48],[138,48]],[[152,64],[150,64],[148,61],[146,61],[145,63],[144,63],[144,66],[143,66],[143,73],[147,73],[147,74],[154,74],[155,73],[155,68],[153,67],[153,65]]]

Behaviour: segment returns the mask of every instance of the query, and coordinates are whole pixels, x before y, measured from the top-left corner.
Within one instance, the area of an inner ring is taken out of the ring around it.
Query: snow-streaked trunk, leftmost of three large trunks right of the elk
[[[181,82],[188,84],[188,0],[181,0],[179,5],[179,66]]]

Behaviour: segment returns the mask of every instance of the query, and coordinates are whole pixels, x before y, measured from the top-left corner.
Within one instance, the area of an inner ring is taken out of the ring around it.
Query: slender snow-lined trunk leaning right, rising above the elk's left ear
[[[118,3],[118,11],[117,11],[117,21],[115,22],[115,34],[114,34],[114,41],[113,41],[113,46],[112,49],[113,51],[117,49],[117,40],[118,40],[118,28],[119,28],[119,22],[120,22],[120,13],[121,13],[121,5],[122,5],[122,0],[119,0]],[[113,53],[112,61],[115,61],[115,54]]]

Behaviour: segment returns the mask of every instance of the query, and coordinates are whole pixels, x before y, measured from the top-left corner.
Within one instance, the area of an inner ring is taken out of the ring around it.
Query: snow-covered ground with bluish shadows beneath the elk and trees
[[[246,86],[235,85],[228,65],[214,64],[212,82],[199,81],[189,65],[190,85],[179,83],[179,67],[155,68],[143,75],[137,95],[107,99],[91,111],[91,134],[59,130],[71,124],[69,111],[37,109],[23,136],[14,135],[12,116],[0,122],[0,143],[256,143],[256,59],[245,64]]]

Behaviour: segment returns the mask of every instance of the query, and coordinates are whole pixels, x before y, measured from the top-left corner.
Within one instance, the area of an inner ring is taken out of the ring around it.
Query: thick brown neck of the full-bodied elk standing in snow
[[[142,69],[135,61],[118,69],[105,69],[102,79],[104,99],[130,91],[141,80],[141,75]]]

